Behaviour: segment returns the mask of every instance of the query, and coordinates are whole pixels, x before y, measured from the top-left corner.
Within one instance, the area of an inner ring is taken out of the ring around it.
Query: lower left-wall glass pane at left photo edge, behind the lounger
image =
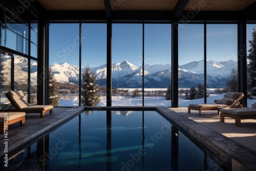
[[[10,101],[5,94],[11,90],[11,56],[0,54],[0,109],[7,109]]]

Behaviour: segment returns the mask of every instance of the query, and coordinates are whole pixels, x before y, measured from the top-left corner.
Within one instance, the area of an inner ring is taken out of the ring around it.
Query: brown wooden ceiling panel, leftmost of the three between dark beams
[[[105,10],[103,0],[38,0],[46,10]]]

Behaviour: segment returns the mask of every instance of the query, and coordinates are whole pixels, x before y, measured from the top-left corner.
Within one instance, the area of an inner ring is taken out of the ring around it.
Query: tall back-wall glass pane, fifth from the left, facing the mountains
[[[198,90],[199,84],[204,83],[204,25],[181,25],[178,38],[179,106],[188,106],[191,103],[190,100],[204,103],[200,93],[194,96],[194,90]]]

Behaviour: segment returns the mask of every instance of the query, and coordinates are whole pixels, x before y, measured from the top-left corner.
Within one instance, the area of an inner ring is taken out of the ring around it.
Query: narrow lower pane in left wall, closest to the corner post
[[[30,62],[30,104],[37,104],[37,61]]]

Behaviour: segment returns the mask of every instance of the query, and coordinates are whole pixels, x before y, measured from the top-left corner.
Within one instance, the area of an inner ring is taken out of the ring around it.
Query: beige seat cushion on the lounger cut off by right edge
[[[220,112],[231,114],[231,115],[236,115],[236,116],[256,115],[256,109],[255,108],[221,109]]]

